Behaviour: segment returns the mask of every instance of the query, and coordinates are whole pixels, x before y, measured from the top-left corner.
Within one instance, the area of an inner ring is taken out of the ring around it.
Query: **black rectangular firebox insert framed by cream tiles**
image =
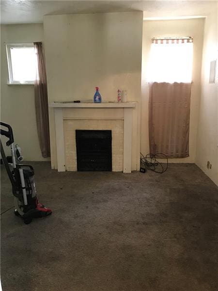
[[[76,130],[77,170],[112,171],[111,130]]]

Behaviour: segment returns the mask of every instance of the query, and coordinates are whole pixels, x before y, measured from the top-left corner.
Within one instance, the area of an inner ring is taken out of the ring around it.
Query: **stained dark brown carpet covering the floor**
[[[218,189],[194,164],[166,173],[35,168],[50,217],[1,215],[3,291],[217,291]],[[1,166],[1,212],[13,206]]]

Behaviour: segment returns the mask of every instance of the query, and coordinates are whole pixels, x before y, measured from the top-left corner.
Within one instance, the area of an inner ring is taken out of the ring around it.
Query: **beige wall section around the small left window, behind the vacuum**
[[[1,116],[14,130],[15,142],[25,160],[45,161],[41,155],[35,120],[34,86],[8,86],[8,66],[4,43],[43,41],[43,24],[1,25]],[[7,148],[6,154],[10,154]]]

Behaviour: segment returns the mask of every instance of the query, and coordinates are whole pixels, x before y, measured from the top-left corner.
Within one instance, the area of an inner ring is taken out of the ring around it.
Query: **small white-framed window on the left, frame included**
[[[7,44],[10,84],[34,83],[36,75],[33,44]]]

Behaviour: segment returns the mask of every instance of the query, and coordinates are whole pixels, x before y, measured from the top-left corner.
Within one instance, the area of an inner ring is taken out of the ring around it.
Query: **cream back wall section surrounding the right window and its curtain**
[[[184,159],[171,159],[170,162],[195,162],[196,138],[198,125],[198,112],[201,87],[201,62],[204,19],[184,20],[153,20],[143,22],[142,40],[142,101],[141,101],[141,152],[149,153],[148,137],[148,99],[149,90],[146,75],[147,62],[151,47],[152,37],[192,36],[193,41],[193,74],[190,108],[190,133],[189,133],[189,157]]]

